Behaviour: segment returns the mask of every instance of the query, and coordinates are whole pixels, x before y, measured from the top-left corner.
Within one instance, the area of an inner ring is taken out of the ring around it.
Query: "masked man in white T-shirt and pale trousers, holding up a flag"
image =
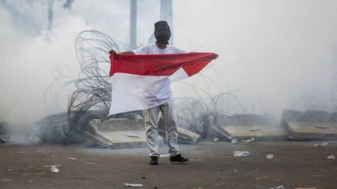
[[[188,53],[173,45],[168,45],[168,40],[171,37],[170,26],[166,21],[158,21],[155,23],[154,36],[156,43],[143,45],[138,49],[132,51],[125,51],[119,55],[154,55],[154,54],[175,54],[175,53]],[[109,53],[116,54],[115,50],[110,50]],[[216,59],[216,55],[213,59]],[[160,62],[158,63],[160,64]],[[156,100],[160,105],[144,110],[145,129],[147,143],[150,150],[150,165],[157,165],[160,156],[158,152],[158,115],[161,112],[165,122],[166,142],[169,148],[170,161],[183,163],[188,161],[179,153],[178,148],[178,132],[177,132],[177,118],[174,112],[172,90],[170,88],[170,79],[166,78],[164,85],[160,90],[154,91],[149,96],[149,100]]]

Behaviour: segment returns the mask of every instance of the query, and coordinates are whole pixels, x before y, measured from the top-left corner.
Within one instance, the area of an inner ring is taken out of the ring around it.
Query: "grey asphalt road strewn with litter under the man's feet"
[[[327,159],[337,156],[337,142],[208,142],[214,144],[180,145],[188,163],[162,157],[156,166],[149,165],[147,148],[0,144],[0,188],[337,188],[337,160]],[[234,157],[234,151],[252,156]],[[60,165],[59,172],[45,167],[51,165]]]

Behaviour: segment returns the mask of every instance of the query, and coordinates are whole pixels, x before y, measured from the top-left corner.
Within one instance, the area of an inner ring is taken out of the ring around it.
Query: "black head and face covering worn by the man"
[[[166,21],[158,21],[155,23],[154,36],[157,40],[156,43],[168,45],[168,40],[170,40],[171,37],[171,30]]]

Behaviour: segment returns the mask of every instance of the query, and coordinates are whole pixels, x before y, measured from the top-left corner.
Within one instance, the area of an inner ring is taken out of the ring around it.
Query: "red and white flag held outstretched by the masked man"
[[[145,110],[167,102],[171,82],[198,73],[214,56],[215,53],[208,52],[110,55],[109,115]]]

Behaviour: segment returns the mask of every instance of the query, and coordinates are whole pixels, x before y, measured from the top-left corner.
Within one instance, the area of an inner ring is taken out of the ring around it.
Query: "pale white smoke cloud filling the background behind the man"
[[[129,1],[54,1],[52,22],[49,5],[0,1],[0,121],[30,122],[61,111],[47,112],[43,93],[53,70],[66,65],[77,77],[74,40],[81,31],[98,30],[129,43]],[[153,33],[160,1],[138,0],[137,6],[139,46]],[[235,91],[249,113],[301,110],[296,102],[311,96],[318,109],[335,111],[337,2],[174,1],[173,24],[176,46],[220,56],[203,72],[213,83],[200,75],[183,82],[213,95],[219,88]],[[182,93],[184,85],[173,84],[174,96],[195,96],[192,89]],[[67,96],[62,99],[65,110]]]

